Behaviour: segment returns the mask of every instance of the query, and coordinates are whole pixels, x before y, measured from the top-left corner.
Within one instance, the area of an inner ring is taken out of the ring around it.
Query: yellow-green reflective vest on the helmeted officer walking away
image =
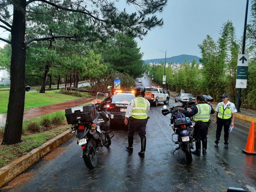
[[[143,97],[136,97],[133,101],[131,117],[134,119],[147,119],[148,102]]]

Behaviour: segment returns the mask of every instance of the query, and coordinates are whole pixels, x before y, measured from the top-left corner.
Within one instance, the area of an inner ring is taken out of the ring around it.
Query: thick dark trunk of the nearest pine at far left
[[[6,125],[2,144],[12,145],[21,141],[25,104],[25,10],[26,0],[15,1],[12,20],[11,87],[7,108]]]

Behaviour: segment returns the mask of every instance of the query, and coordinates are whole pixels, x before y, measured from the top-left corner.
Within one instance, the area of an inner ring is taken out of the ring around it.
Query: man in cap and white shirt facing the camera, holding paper
[[[234,125],[235,113],[237,112],[234,103],[228,101],[228,95],[221,96],[222,102],[218,103],[215,111],[214,124],[217,124],[215,147],[218,147],[222,127],[224,127],[224,147],[228,148],[229,126]]]

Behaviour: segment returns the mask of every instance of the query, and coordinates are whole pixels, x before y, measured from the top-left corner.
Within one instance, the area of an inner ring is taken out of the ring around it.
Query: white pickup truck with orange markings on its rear
[[[159,86],[145,87],[145,89],[144,98],[147,99],[149,103],[153,103],[153,106],[157,106],[158,102],[164,102],[164,104],[169,103],[169,95]]]

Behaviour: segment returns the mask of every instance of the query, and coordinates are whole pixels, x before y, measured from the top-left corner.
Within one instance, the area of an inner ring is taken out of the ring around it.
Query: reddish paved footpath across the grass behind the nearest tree
[[[28,119],[38,118],[56,111],[62,111],[62,110],[65,110],[66,108],[83,105],[85,103],[91,102],[93,99],[94,97],[68,100],[68,101],[63,101],[61,103],[55,103],[55,104],[46,105],[42,107],[26,109],[24,110],[23,121]],[[0,114],[0,126],[5,125],[6,115],[7,115],[6,113]]]

